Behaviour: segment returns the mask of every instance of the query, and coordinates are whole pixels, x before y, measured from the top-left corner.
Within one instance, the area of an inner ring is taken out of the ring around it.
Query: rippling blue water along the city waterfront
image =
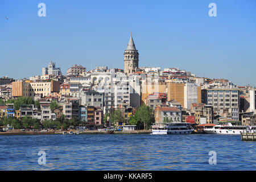
[[[0,136],[0,170],[255,170],[255,148],[240,135]]]

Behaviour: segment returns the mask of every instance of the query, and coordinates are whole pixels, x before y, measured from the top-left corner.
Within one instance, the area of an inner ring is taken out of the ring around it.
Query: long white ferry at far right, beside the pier
[[[207,134],[230,134],[240,135],[246,126],[233,126],[232,123],[226,123],[225,125],[216,125],[212,128],[204,129]]]

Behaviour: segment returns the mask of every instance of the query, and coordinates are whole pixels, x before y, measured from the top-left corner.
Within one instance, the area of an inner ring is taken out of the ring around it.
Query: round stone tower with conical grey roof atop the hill
[[[123,53],[123,59],[125,64],[124,72],[126,74],[135,73],[139,68],[139,53],[133,42],[133,36],[130,36],[128,46]]]

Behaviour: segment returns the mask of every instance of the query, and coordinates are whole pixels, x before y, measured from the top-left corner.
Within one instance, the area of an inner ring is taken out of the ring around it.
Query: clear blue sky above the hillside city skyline
[[[217,17],[208,15],[212,2]],[[64,75],[72,64],[123,69],[131,30],[139,67],[256,86],[255,0],[1,0],[0,77],[41,75],[51,60]]]

